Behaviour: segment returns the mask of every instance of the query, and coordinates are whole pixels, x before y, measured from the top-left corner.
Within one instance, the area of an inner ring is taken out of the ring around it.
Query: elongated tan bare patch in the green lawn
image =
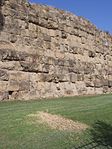
[[[66,131],[83,131],[89,126],[80,122],[75,122],[71,119],[64,118],[60,115],[54,115],[47,112],[37,112],[30,114],[28,117],[32,118],[37,123],[47,124],[51,129],[66,130]]]

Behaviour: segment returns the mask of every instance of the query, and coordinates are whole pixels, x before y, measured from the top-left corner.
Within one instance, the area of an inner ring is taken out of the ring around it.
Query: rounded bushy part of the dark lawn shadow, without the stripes
[[[99,145],[112,147],[112,125],[97,121],[90,130],[92,139]]]

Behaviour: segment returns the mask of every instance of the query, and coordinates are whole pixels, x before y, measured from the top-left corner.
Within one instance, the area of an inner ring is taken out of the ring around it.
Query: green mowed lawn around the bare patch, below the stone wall
[[[71,149],[90,137],[87,132],[52,130],[30,123],[27,115],[37,111],[61,115],[90,127],[98,120],[111,125],[112,95],[0,102],[0,149]]]

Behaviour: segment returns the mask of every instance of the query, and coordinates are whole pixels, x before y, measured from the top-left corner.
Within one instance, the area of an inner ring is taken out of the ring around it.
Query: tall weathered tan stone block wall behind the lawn
[[[63,10],[0,1],[0,100],[112,92],[112,36]]]

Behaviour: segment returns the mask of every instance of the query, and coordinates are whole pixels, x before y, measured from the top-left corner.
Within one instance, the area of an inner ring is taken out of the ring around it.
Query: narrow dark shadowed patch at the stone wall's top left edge
[[[4,27],[4,16],[2,14],[2,6],[4,4],[4,0],[0,0],[0,31],[3,30]]]

